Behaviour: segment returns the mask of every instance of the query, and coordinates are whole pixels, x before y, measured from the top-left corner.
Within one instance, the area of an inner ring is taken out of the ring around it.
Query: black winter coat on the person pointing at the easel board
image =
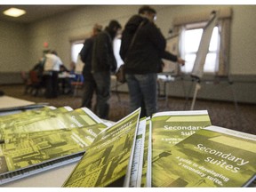
[[[132,47],[132,36],[140,22],[142,27],[138,30]],[[124,61],[124,70],[127,74],[157,73],[162,66],[162,59],[176,61],[177,57],[165,52],[166,41],[159,28],[153,22],[134,15],[124,27],[120,56]]]

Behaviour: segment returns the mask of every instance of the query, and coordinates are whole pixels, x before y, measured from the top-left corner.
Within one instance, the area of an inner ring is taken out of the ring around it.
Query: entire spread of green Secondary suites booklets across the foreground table
[[[212,125],[206,110],[140,118],[138,108],[110,123],[88,108],[45,107],[0,123],[0,184],[77,161],[62,187],[255,185],[256,136]]]

